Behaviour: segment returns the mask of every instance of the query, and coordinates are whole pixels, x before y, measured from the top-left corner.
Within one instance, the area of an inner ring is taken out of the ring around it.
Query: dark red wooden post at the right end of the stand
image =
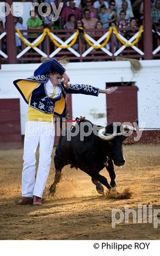
[[[144,60],[153,59],[151,1],[144,0]]]

